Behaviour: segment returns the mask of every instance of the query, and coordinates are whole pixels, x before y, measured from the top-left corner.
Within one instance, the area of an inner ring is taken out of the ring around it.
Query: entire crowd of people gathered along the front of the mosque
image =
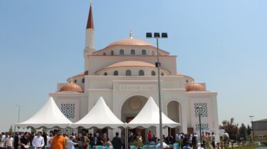
[[[228,134],[224,135],[227,139]],[[128,148],[130,146],[137,146],[142,148],[143,144],[149,144],[156,146],[156,149],[160,149],[160,139],[155,133],[147,133],[146,142],[140,133],[133,134],[129,131],[128,136]],[[61,130],[57,130],[50,135],[47,133],[28,133],[12,134],[1,133],[0,134],[0,149],[93,149],[94,146],[112,146],[114,149],[125,149],[125,134],[116,133],[116,136],[110,140],[107,133],[99,134],[86,133],[86,134],[72,134],[71,136],[64,133],[61,135]],[[178,133],[175,136],[168,135],[162,136],[163,148],[169,148],[168,144],[175,144],[180,142],[182,149],[197,149],[197,144],[200,143],[200,137],[197,133]],[[202,146],[201,148],[215,148],[215,135],[214,133],[202,133]]]

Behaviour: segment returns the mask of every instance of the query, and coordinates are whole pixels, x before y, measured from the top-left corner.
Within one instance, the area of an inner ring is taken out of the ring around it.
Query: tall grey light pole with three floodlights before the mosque
[[[161,109],[161,95],[160,95],[160,57],[158,53],[158,38],[168,38],[168,34],[166,32],[162,32],[161,37],[160,33],[155,32],[154,37],[152,37],[151,32],[147,32],[147,38],[156,38],[157,39],[157,62],[156,67],[158,67],[158,106],[160,113],[160,149],[163,149],[163,141],[162,141],[162,109]]]

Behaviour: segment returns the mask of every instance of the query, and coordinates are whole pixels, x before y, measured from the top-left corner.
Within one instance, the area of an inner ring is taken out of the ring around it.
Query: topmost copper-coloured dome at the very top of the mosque
[[[136,38],[124,38],[119,41],[115,41],[114,43],[111,43],[107,45],[107,47],[113,47],[115,45],[150,45],[153,46],[151,43],[147,41],[143,41],[141,39],[136,39]],[[105,48],[107,48],[105,47]]]

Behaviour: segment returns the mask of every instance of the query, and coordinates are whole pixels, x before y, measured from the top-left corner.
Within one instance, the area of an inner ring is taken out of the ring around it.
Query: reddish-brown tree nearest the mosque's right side
[[[235,124],[234,120],[233,117],[230,121],[223,120],[222,125],[219,126],[220,129],[224,129],[226,133],[228,133],[230,139],[237,139],[236,134],[238,132],[238,124]]]

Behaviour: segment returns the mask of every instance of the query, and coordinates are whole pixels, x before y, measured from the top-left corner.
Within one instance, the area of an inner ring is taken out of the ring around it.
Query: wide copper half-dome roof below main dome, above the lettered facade
[[[142,62],[142,61],[122,61],[122,62],[116,62],[115,64],[109,65],[107,68],[113,68],[113,67],[155,67],[155,65],[149,63],[149,62]]]

